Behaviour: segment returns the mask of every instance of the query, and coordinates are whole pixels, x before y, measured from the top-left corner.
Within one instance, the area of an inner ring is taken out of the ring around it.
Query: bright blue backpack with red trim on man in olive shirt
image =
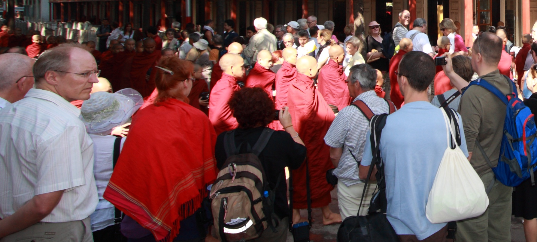
[[[514,187],[531,178],[533,186],[535,184],[533,172],[537,168],[537,143],[534,142],[537,131],[535,121],[531,110],[518,99],[514,82],[508,77],[505,78],[512,84],[511,94],[504,95],[483,79],[472,81],[468,85],[468,87],[478,85],[489,90],[507,105],[498,165],[492,167],[489,157],[477,140],[476,145],[500,183]],[[494,184],[494,180],[491,184]],[[487,188],[487,192],[490,188],[492,187]]]

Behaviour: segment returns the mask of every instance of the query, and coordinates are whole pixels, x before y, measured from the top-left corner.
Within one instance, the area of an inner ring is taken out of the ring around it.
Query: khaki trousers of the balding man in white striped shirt
[[[0,239],[0,242],[93,242],[90,217],[83,220],[48,223],[39,222]]]

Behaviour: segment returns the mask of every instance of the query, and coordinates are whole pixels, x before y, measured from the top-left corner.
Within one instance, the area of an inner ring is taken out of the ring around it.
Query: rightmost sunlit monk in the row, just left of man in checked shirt
[[[317,79],[317,89],[324,97],[326,103],[337,106],[342,110],[351,104],[349,87],[345,83],[347,76],[343,71],[345,51],[340,46],[332,46],[328,51],[330,59],[323,65]]]

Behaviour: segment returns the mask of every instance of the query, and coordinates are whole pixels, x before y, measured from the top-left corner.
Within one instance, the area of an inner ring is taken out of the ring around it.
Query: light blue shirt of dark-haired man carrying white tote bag
[[[461,121],[459,125],[460,148],[468,156]],[[448,147],[447,132],[442,111],[429,102],[404,104],[386,119],[380,152],[386,178],[387,217],[397,235],[416,235],[423,240],[446,226],[429,222],[425,205]],[[371,131],[366,137],[370,134]],[[371,160],[371,142],[365,142],[361,164],[368,166]]]

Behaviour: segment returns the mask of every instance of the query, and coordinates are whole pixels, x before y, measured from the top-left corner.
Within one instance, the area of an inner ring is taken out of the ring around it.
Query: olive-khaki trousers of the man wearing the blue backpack
[[[485,188],[492,180],[492,171],[481,176]],[[496,180],[489,192],[489,207],[481,216],[457,222],[456,241],[509,242],[511,241],[511,194],[513,188]]]

